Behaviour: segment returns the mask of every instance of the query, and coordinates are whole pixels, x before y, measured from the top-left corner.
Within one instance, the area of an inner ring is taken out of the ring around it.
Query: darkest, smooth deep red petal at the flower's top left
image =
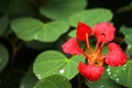
[[[88,36],[90,36],[91,34],[91,29],[90,26],[79,22],[78,26],[77,26],[77,40],[79,41],[86,41],[86,33],[88,34]]]

